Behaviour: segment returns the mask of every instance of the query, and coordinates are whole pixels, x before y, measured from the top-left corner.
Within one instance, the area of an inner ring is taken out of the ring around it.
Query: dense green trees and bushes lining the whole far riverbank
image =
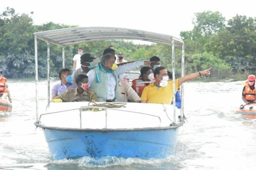
[[[33,15],[31,13],[30,15]],[[227,78],[231,74],[254,74],[256,70],[256,19],[236,15],[226,20],[221,13],[196,13],[194,28],[182,31],[185,42],[185,73],[213,67],[212,77]],[[17,14],[6,8],[0,14],[0,70],[6,77],[30,77],[35,73],[34,32],[76,27],[55,23],[33,25],[28,14]],[[134,44],[131,41],[95,41],[65,47],[66,66],[72,68],[72,59],[78,47],[98,58],[109,45],[123,52],[125,59],[148,60],[159,56],[161,65],[171,70],[171,47],[163,44]],[[57,76],[62,67],[62,47],[51,44],[51,76]],[[175,52],[177,76],[180,76],[181,50]],[[40,77],[47,75],[47,43],[38,41],[38,70]]]

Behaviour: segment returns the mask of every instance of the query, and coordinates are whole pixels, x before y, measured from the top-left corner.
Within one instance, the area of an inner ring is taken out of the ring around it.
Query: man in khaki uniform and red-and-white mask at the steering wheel
[[[67,89],[62,95],[56,96],[53,102],[71,102],[73,99],[85,98],[98,102],[97,94],[91,88],[88,88],[88,76],[80,74],[76,79],[77,88]],[[85,101],[85,100],[81,100]]]

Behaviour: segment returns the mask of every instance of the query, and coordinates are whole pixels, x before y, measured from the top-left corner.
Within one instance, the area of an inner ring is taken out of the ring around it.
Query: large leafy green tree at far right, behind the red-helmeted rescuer
[[[212,52],[232,65],[233,71],[255,72],[256,20],[236,15],[212,39]]]

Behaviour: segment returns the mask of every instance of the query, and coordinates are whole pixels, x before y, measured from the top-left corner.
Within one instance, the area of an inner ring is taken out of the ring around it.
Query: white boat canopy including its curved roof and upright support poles
[[[172,77],[175,79],[175,53],[174,48],[182,49],[181,53],[181,76],[184,76],[184,42],[174,36],[152,33],[142,30],[114,27],[75,27],[58,30],[35,32],[35,79],[36,79],[36,120],[38,116],[38,55],[37,39],[47,42],[47,79],[48,79],[48,103],[50,102],[50,43],[62,46],[62,67],[65,68],[65,46],[97,40],[142,40],[162,43],[172,46]],[[173,121],[176,123],[175,111],[175,81],[173,81]],[[184,87],[181,85],[181,119],[184,115]]]

